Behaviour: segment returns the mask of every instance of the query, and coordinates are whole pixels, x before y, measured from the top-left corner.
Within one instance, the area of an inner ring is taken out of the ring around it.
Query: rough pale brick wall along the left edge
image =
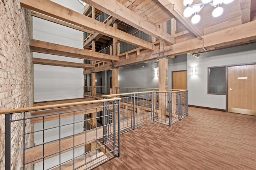
[[[22,8],[20,0],[0,0],[0,110],[31,107],[33,104],[33,64],[29,38],[32,38],[30,10]],[[0,115],[1,170],[5,169],[4,125],[4,115]],[[12,169],[22,167],[20,129],[23,129],[22,123],[12,125]]]

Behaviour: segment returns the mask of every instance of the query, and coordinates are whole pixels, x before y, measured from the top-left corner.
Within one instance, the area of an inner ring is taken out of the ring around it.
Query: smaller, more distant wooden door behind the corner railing
[[[172,89],[187,89],[187,71],[172,72]]]

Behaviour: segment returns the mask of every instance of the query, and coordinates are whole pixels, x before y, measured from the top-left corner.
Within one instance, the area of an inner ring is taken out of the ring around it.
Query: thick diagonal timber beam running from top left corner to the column
[[[155,49],[155,45],[152,43],[136,38],[111,26],[107,26],[106,24],[93,20],[88,16],[84,16],[83,14],[56,4],[50,0],[21,0],[20,4],[24,8],[98,32],[105,36],[117,38],[123,42],[143,47],[151,51]]]

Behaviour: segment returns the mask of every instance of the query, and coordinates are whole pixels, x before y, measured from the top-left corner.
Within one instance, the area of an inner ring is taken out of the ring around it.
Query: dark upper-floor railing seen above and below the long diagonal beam
[[[140,30],[133,33],[132,35],[135,36],[135,37],[138,37],[142,40],[145,40],[147,42],[152,42],[152,36],[142,32]],[[124,53],[124,52],[127,52],[127,51],[130,51],[132,49],[138,48],[138,46],[136,46],[136,45],[132,45],[132,44],[122,42],[122,41],[118,41],[117,43],[120,43],[120,54]]]

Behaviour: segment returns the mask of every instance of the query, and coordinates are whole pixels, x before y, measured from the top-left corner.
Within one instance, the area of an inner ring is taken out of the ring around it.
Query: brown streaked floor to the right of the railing
[[[256,116],[189,107],[172,127],[156,122],[121,134],[121,157],[95,170],[256,169]]]

